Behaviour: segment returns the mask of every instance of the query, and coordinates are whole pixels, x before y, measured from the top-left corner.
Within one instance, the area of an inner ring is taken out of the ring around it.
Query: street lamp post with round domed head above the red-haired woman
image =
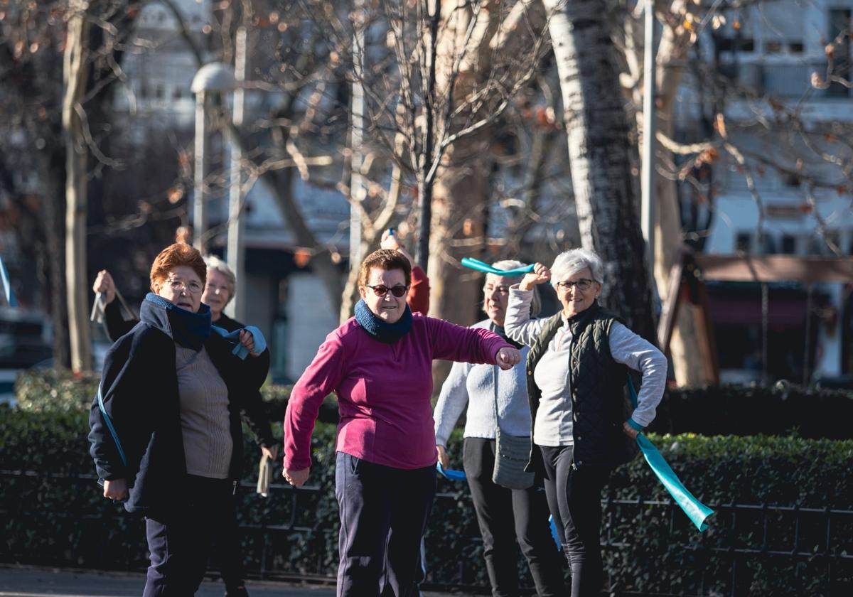
[[[234,71],[223,62],[211,62],[195,73],[190,90],[195,94],[195,171],[193,197],[193,246],[205,252],[207,229],[205,177],[207,176],[207,107],[214,97],[235,88]]]

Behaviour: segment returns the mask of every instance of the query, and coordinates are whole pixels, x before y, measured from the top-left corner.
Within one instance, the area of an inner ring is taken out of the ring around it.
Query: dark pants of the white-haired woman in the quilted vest
[[[545,461],[545,492],[557,535],[572,567],[572,597],[601,591],[601,489],[609,467],[572,468],[572,447],[539,446]]]

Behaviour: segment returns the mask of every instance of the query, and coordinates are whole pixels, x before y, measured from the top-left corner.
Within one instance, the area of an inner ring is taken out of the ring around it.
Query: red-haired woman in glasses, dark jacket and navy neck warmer
[[[264,382],[268,351],[233,354],[201,304],[206,265],[183,243],[151,268],[140,322],[107,352],[90,411],[90,452],[104,496],[146,516],[144,597],[194,594],[214,543],[234,544],[243,397]],[[236,341],[236,340],[235,340]],[[245,594],[245,589],[242,589]],[[235,593],[240,594],[240,593]]]

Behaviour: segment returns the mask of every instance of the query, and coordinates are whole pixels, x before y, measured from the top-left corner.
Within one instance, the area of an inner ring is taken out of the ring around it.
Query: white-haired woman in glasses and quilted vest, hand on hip
[[[586,249],[560,253],[550,269],[536,264],[510,288],[504,323],[509,338],[531,346],[526,369],[534,445],[528,469],[544,475],[548,507],[572,568],[572,597],[599,594],[601,489],[613,467],[635,455],[633,440],[654,419],[666,383],[664,355],[598,304],[603,269],[601,258]],[[562,310],[533,320],[533,288],[548,281]],[[626,419],[629,369],[642,374],[642,384]]]

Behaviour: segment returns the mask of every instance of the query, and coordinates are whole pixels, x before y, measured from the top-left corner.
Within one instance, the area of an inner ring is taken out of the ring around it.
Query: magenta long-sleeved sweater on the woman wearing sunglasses
[[[293,386],[284,415],[284,466],[310,467],[310,439],[324,397],[338,395],[337,451],[395,468],[436,462],[432,359],[495,363],[508,344],[486,329],[415,314],[392,345],[374,339],[355,318],[317,351]]]

